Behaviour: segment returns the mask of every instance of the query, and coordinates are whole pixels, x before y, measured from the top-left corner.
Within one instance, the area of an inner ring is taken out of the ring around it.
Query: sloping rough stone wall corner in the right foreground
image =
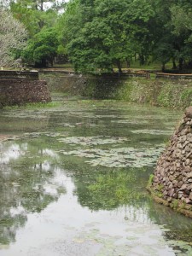
[[[167,205],[192,209],[192,107],[160,156],[154,171],[152,193]]]

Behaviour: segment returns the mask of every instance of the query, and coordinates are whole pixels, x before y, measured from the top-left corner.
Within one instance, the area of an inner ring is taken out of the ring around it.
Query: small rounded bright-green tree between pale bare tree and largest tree
[[[53,65],[58,45],[55,29],[44,28],[28,41],[22,57],[28,63],[33,62],[36,67],[47,67]]]

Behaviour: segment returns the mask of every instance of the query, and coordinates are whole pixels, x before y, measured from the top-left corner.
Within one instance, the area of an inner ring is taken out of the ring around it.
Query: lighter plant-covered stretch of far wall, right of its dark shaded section
[[[128,79],[119,85],[115,97],[128,102],[182,109],[192,104],[192,81]]]

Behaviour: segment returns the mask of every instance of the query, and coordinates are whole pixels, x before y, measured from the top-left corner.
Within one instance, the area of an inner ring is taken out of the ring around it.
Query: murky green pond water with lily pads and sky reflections
[[[192,255],[192,220],[145,189],[182,113],[54,100],[1,110],[0,255]]]

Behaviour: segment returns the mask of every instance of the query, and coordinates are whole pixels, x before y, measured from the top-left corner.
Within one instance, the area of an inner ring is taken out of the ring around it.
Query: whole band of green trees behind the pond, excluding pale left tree
[[[192,66],[191,0],[0,0],[0,4],[26,27],[28,46],[23,55],[28,51],[29,63],[44,66],[53,55],[67,55],[75,70],[84,72],[111,72],[113,67],[121,72],[133,57],[141,65],[160,61],[162,69],[168,61],[174,68]],[[55,35],[48,44],[45,34],[50,30]],[[41,40],[38,49],[37,40]]]

